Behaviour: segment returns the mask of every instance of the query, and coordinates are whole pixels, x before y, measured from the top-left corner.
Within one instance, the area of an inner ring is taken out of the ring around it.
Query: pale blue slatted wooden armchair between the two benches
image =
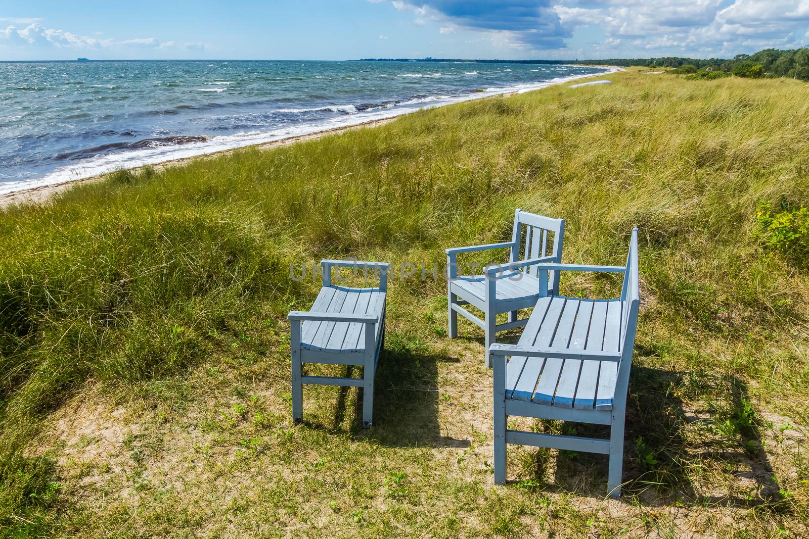
[[[523,232],[524,228],[524,232]],[[536,264],[540,262],[561,262],[562,238],[565,234],[565,221],[552,219],[518,209],[514,214],[514,227],[511,241],[455,247],[447,249],[447,310],[449,337],[458,336],[458,314],[480,326],[485,331],[485,347],[494,343],[498,331],[524,326],[527,318],[517,319],[517,311],[536,305],[540,294],[559,292],[559,276],[550,272],[549,279],[540,282]],[[507,272],[482,275],[458,275],[458,255],[476,251],[508,249],[509,262],[504,264]],[[544,273],[548,277],[548,272]],[[483,311],[484,319],[478,318],[463,305],[472,305]],[[498,314],[508,313],[508,322],[498,324]],[[486,364],[489,354],[485,355]]]

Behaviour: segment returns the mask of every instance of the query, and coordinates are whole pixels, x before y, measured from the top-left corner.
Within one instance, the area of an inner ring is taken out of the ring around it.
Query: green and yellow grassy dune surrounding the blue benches
[[[809,86],[643,71],[0,212],[0,536],[805,536]],[[290,263],[440,266],[516,207],[565,218],[569,263],[640,228],[621,501],[606,458],[514,446],[493,488],[483,334],[446,338],[440,279],[390,285],[375,427],[337,388],[291,427],[285,316],[319,284]]]

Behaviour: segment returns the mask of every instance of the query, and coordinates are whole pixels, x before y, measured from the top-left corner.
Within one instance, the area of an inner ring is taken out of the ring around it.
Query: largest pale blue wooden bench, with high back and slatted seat
[[[637,229],[625,267],[557,263],[538,267],[540,272],[623,273],[624,285],[619,299],[540,297],[519,342],[489,348],[494,363],[494,482],[506,482],[506,444],[604,453],[609,455],[608,495],[618,497],[626,390],[640,305]],[[510,356],[507,363],[506,356]],[[610,425],[610,437],[509,430],[509,415]]]

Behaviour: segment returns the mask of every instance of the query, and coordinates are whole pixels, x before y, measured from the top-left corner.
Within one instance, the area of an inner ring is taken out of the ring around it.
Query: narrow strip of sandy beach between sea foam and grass
[[[503,92],[502,94],[485,95],[483,97],[465,99],[464,101],[458,101],[458,102],[455,102],[455,103],[446,103],[446,104],[439,105],[438,107],[422,107],[422,108],[446,107],[447,105],[450,105],[450,104],[468,103],[469,101],[474,101],[474,100],[477,100],[477,99],[487,99],[487,98],[491,98],[491,97],[509,97],[511,95],[523,94],[523,93],[527,93],[527,92],[530,92],[530,91],[544,90],[544,88],[548,88],[549,86],[559,86],[559,85],[565,84],[567,82],[574,82],[576,80],[582,80],[584,78],[603,77],[603,76],[606,76],[606,75],[610,75],[610,74],[613,74],[613,73],[616,73],[616,72],[626,70],[626,69],[621,68],[621,67],[619,67],[617,65],[598,65],[598,66],[594,65],[592,67],[599,67],[599,68],[608,69],[608,70],[605,71],[604,73],[584,75],[584,76],[579,76],[579,77],[571,77],[571,78],[568,78],[568,79],[566,79],[564,81],[551,82],[551,83],[549,83],[549,84],[547,84],[545,86],[540,86],[539,88],[536,88],[534,90],[507,91],[507,92]],[[417,110],[422,110],[422,109],[417,109]],[[312,133],[303,133],[303,134],[300,134],[300,135],[293,135],[293,136],[290,136],[290,137],[283,137],[283,138],[280,138],[280,139],[277,139],[277,140],[274,140],[274,141],[257,142],[255,144],[237,146],[237,147],[234,147],[234,148],[218,149],[218,150],[214,150],[214,151],[212,151],[210,153],[205,153],[205,154],[198,154],[198,155],[193,155],[193,156],[189,156],[189,157],[182,157],[182,158],[172,158],[172,159],[167,159],[167,160],[161,161],[161,162],[155,162],[155,163],[148,164],[148,165],[122,167],[121,170],[137,171],[137,170],[140,170],[142,168],[145,168],[145,167],[149,166],[149,167],[152,167],[155,170],[159,171],[160,169],[163,169],[163,168],[165,168],[167,166],[182,165],[184,163],[190,162],[192,159],[214,158],[214,157],[219,157],[219,156],[222,156],[222,155],[231,154],[232,152],[235,152],[238,149],[244,149],[244,148],[270,149],[270,148],[275,148],[277,146],[294,144],[295,142],[299,142],[299,141],[313,140],[313,139],[324,137],[324,136],[330,135],[330,134],[342,133],[342,132],[347,131],[349,129],[363,128],[363,127],[376,127],[376,126],[379,126],[379,125],[388,124],[389,122],[392,122],[393,120],[396,120],[396,118],[399,118],[400,116],[405,116],[408,113],[409,112],[405,112],[403,114],[398,114],[396,116],[389,116],[389,117],[384,117],[384,118],[376,118],[374,120],[366,120],[366,121],[363,121],[363,122],[359,122],[357,124],[341,125],[341,126],[334,127],[334,128],[320,129],[320,130],[314,131]],[[38,185],[38,186],[35,186],[35,187],[23,187],[22,189],[19,189],[19,191],[11,191],[11,192],[2,193],[2,194],[0,194],[0,209],[9,208],[9,207],[15,206],[15,205],[23,205],[23,204],[44,204],[44,202],[49,200],[49,198],[51,196],[57,195],[57,194],[62,193],[62,192],[66,192],[66,191],[70,190],[71,188],[76,187],[78,185],[81,185],[83,183],[95,183],[95,182],[98,182],[101,179],[104,179],[104,177],[106,177],[107,175],[109,175],[110,172],[112,172],[112,171],[108,171],[108,172],[105,172],[104,174],[100,174],[100,175],[91,175],[91,176],[88,176],[87,178],[69,179],[69,180],[66,180],[66,181],[63,181],[63,182],[46,183],[44,185]]]

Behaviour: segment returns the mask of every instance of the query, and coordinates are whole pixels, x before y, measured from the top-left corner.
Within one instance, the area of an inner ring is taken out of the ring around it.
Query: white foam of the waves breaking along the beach
[[[350,125],[362,124],[366,121],[393,118],[395,116],[415,112],[421,108],[440,107],[450,103],[460,103],[461,101],[481,99],[489,97],[490,95],[501,95],[512,92],[523,93],[532,90],[539,90],[540,88],[544,88],[545,86],[550,86],[558,82],[567,82],[579,78],[602,76],[604,74],[614,73],[615,71],[616,69],[606,69],[603,73],[599,74],[573,75],[570,77],[555,78],[552,81],[528,83],[519,86],[506,86],[500,88],[493,87],[483,92],[464,94],[454,97],[442,95],[434,96],[434,99],[430,99],[430,97],[433,97],[430,96],[427,98],[421,98],[424,99],[424,101],[421,103],[425,103],[423,107],[391,107],[388,105],[386,107],[379,107],[375,110],[363,111],[355,114],[344,114],[341,116],[320,120],[319,122],[297,124],[291,127],[274,129],[272,131],[252,131],[250,133],[239,133],[222,137],[210,137],[206,141],[192,142],[184,145],[166,145],[155,148],[140,148],[106,155],[96,155],[93,158],[89,158],[82,162],[77,162],[74,165],[63,166],[62,168],[57,169],[56,171],[53,171],[40,179],[0,183],[0,194],[30,189],[32,187],[40,187],[43,185],[51,185],[53,183],[62,183],[74,179],[89,178],[91,176],[116,171],[121,167],[154,165],[159,162],[165,162],[173,159],[191,158],[197,155],[211,154],[224,149],[241,148],[248,145],[278,141],[287,137],[296,137],[300,135],[317,133],[329,128],[348,127]],[[222,89],[210,88],[205,90]],[[321,107],[321,110],[332,110],[333,108],[337,108],[338,110],[345,109],[341,112],[346,112],[346,110],[350,110],[350,108],[354,108],[354,111],[356,111],[356,107],[354,107],[354,105],[345,105],[342,107]],[[286,110],[303,111],[307,109]]]

